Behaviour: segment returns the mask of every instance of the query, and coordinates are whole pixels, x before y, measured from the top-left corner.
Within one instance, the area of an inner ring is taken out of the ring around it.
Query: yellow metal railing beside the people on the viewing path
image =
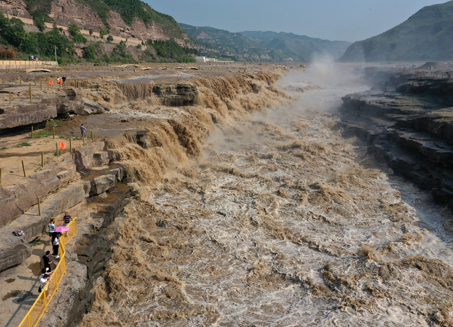
[[[53,218],[54,220],[63,220],[63,218]],[[69,228],[67,231],[66,237],[61,237],[60,241],[60,259],[54,270],[54,273],[50,277],[49,283],[46,284],[41,293],[38,294],[38,298],[33,303],[30,310],[28,310],[24,319],[19,323],[18,327],[35,327],[42,315],[47,312],[50,301],[52,300],[55,292],[58,292],[58,286],[63,279],[63,275],[66,274],[66,250],[64,249],[65,244],[77,235],[77,228],[75,224],[75,219],[72,218],[72,221],[66,225]],[[62,224],[62,223],[61,223]]]

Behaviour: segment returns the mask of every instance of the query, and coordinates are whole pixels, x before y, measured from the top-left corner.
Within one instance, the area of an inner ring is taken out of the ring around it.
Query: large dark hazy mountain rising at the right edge
[[[340,61],[444,61],[453,58],[453,1],[422,8],[404,23],[353,43]]]

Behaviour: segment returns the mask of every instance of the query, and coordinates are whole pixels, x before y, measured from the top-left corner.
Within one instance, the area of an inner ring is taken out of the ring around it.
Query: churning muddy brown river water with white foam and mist
[[[450,211],[333,128],[340,97],[369,87],[323,67],[280,79],[298,101],[225,120],[171,170],[120,153],[163,179],[118,218],[80,326],[453,324]]]

